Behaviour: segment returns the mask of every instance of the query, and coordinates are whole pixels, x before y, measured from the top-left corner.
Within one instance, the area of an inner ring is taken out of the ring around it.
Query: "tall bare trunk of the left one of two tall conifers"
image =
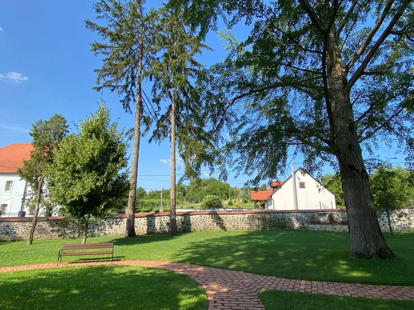
[[[142,34],[141,34],[142,35]],[[135,237],[135,201],[137,199],[137,176],[138,176],[138,161],[139,161],[139,142],[141,139],[141,108],[142,108],[142,39],[140,40],[141,49],[138,63],[137,76],[137,97],[135,98],[135,124],[134,124],[134,144],[132,145],[132,167],[130,178],[130,189],[128,194],[128,207],[126,209],[126,237]]]

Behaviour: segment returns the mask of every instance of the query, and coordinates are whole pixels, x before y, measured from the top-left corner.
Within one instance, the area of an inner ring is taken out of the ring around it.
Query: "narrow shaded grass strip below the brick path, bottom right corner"
[[[259,297],[266,310],[397,310],[414,307],[414,302],[410,300],[339,297],[290,291],[263,291]]]

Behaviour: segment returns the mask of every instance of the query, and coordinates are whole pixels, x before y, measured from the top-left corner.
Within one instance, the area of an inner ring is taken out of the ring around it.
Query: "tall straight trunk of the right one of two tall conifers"
[[[171,185],[170,185],[170,235],[177,234],[177,220],[175,218],[175,90],[172,90],[171,99]]]

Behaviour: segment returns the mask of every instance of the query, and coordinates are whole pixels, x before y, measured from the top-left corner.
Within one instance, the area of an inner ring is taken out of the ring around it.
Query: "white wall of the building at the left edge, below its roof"
[[[7,181],[12,181],[11,191],[5,191]],[[0,174],[0,207],[6,206],[6,213],[2,216],[17,216],[21,210],[26,181],[21,180],[18,174]]]

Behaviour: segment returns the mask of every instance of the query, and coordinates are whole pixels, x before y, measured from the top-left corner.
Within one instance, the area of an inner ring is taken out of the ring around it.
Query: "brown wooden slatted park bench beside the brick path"
[[[99,251],[97,251],[97,249]],[[105,249],[105,250],[101,250]],[[77,251],[74,251],[77,250]],[[93,250],[93,251],[86,251]],[[83,255],[101,255],[101,254],[110,254],[110,261],[114,260],[114,242],[106,243],[89,243],[85,245],[72,244],[72,245],[62,245],[62,248],[57,254],[57,264],[59,265],[62,262],[62,256],[83,256]]]

